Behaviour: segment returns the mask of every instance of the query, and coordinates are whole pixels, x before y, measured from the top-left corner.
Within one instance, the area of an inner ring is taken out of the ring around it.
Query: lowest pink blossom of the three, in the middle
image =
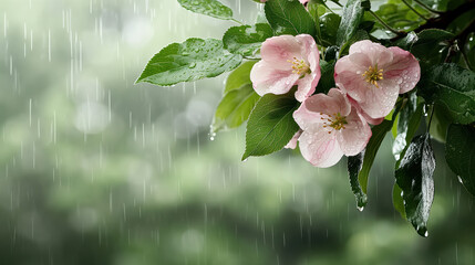
[[[361,152],[371,137],[371,128],[338,88],[317,94],[302,103],[293,118],[303,130],[299,138],[304,159],[316,167],[335,165],[343,155]]]

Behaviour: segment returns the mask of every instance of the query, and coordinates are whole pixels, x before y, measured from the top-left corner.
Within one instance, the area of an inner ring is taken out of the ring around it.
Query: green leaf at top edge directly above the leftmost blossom
[[[316,34],[314,22],[299,0],[268,0],[265,11],[278,35]]]

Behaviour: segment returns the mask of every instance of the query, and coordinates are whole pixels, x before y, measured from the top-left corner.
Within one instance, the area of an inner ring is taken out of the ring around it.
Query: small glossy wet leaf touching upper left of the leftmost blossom
[[[264,41],[273,35],[269,24],[233,26],[223,36],[225,49],[244,56],[255,55]]]

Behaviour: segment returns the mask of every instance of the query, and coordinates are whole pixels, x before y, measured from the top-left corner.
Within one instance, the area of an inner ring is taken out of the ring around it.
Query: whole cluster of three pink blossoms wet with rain
[[[287,147],[295,148],[298,141],[304,159],[326,168],[343,155],[361,152],[372,135],[369,124],[382,123],[399,94],[413,89],[420,75],[410,52],[360,41],[335,63],[338,88],[313,95],[321,76],[320,53],[313,38],[301,34],[266,40],[250,78],[259,95],[281,95],[298,87],[295,96],[301,106],[293,119],[300,130]]]

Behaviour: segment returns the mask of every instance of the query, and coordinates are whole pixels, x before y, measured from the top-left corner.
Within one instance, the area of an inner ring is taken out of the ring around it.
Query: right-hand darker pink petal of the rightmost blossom
[[[400,94],[413,89],[421,78],[417,60],[401,47],[392,46],[389,50],[393,53],[393,62],[384,70],[384,78],[400,78]]]

